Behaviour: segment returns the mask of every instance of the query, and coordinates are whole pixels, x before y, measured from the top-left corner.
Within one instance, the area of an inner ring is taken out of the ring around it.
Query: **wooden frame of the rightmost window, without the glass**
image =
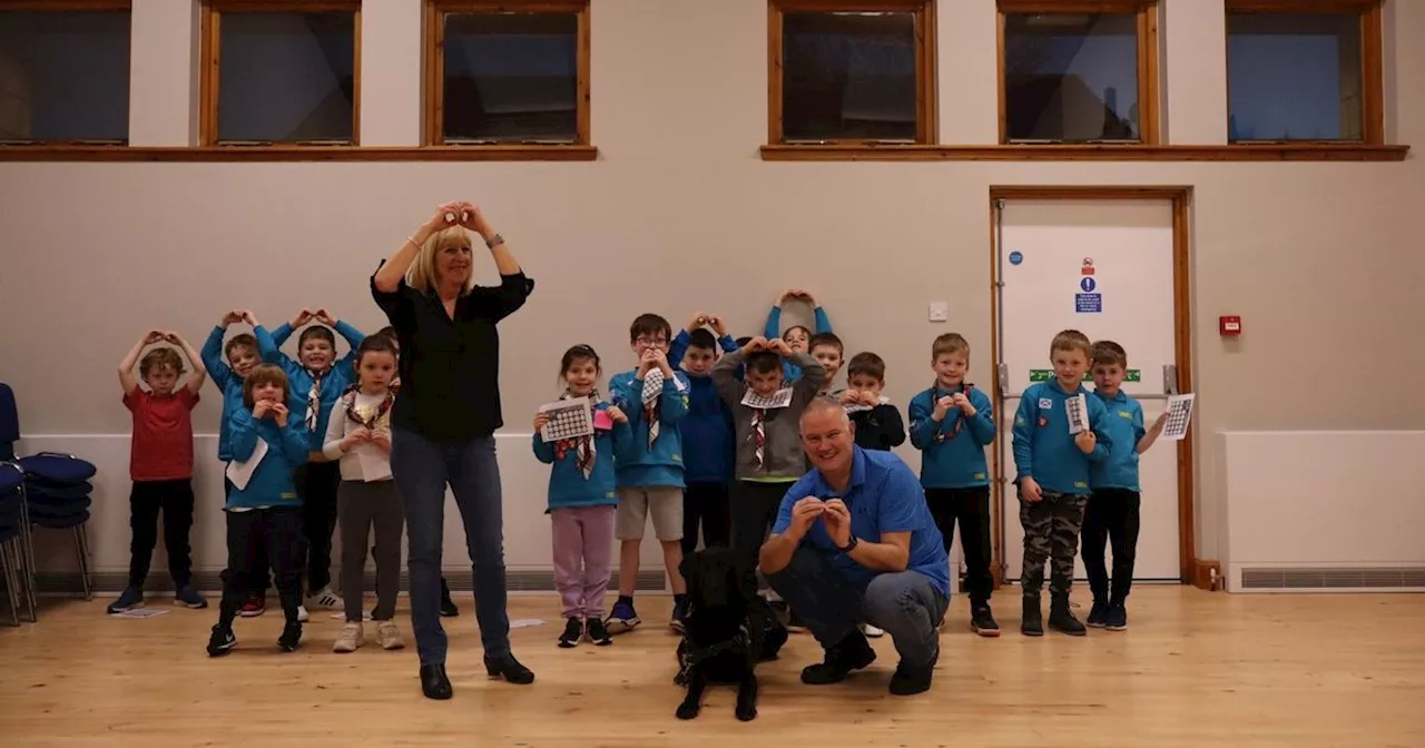
[[[1385,0],[1227,0],[1227,13],[1318,16],[1358,13],[1361,19],[1361,134],[1365,145],[1385,145]],[[1231,58],[1227,61],[1231,66]],[[1231,76],[1228,70],[1228,77]],[[1227,117],[1233,115],[1231,104]],[[1315,148],[1359,148],[1357,141],[1291,141]],[[1230,144],[1241,148],[1250,144]]]

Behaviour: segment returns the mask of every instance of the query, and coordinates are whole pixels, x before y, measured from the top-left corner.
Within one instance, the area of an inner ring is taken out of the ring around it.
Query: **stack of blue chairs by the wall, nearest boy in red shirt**
[[[31,527],[48,530],[71,530],[74,533],[74,550],[80,560],[80,577],[84,587],[84,598],[94,598],[94,583],[88,550],[88,517],[90,493],[94,484],[97,469],[93,463],[81,460],[74,454],[57,452],[41,452],[20,457],[14,453],[14,445],[20,440],[20,413],[14,405],[14,390],[9,385],[0,383],[0,462],[10,462],[24,472],[24,527],[21,529],[23,546],[28,561],[28,588],[34,588],[34,539]],[[31,593],[33,607],[33,593]]]

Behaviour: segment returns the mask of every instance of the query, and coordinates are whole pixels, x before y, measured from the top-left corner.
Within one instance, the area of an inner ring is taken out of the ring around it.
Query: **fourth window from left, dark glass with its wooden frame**
[[[770,0],[768,141],[933,144],[932,0]]]

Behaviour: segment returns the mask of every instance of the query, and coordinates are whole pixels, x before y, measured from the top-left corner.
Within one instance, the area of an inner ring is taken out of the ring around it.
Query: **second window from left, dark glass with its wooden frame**
[[[207,0],[202,145],[355,145],[361,3]]]

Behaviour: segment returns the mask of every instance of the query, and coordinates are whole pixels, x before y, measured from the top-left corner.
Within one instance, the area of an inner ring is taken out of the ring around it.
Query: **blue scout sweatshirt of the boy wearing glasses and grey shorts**
[[[678,426],[688,412],[688,376],[673,372],[663,380],[663,395],[658,406],[658,440],[648,446],[648,416],[643,409],[643,379],[638,369],[614,375],[608,380],[608,396],[628,416],[628,430],[633,443],[628,452],[616,459],[614,472],[618,487],[684,487],[683,479],[683,435]]]

